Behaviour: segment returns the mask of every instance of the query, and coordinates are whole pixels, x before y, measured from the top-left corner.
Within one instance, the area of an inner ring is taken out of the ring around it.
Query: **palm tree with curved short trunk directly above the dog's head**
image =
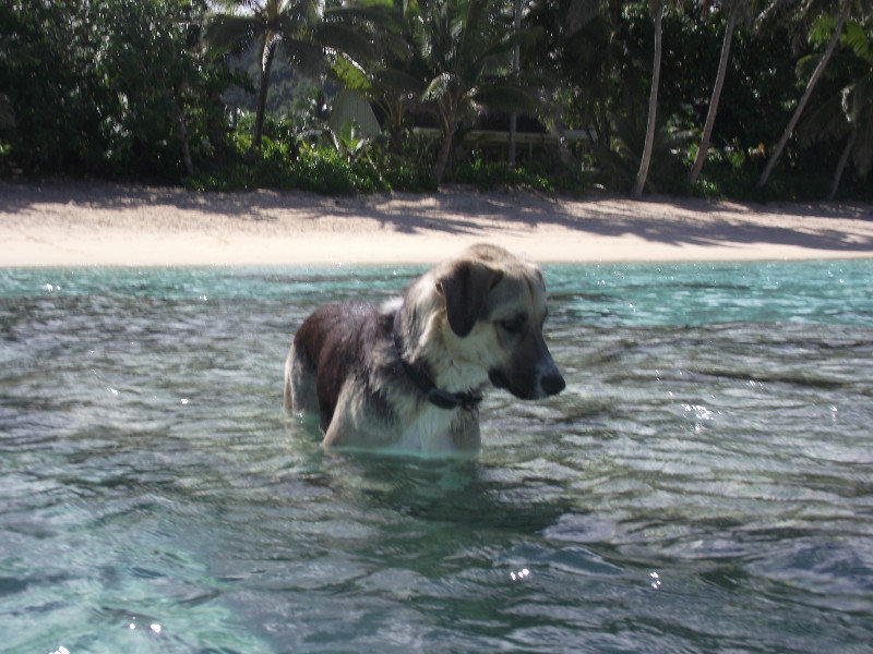
[[[533,31],[513,29],[513,14],[501,0],[429,0],[412,35],[416,57],[428,71],[422,100],[434,107],[442,144],[433,175],[439,184],[462,121],[480,106],[536,109],[533,96],[504,74],[519,39]]]

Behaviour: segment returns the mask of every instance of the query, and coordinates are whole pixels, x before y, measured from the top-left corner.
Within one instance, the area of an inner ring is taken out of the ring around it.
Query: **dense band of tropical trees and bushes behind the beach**
[[[0,177],[873,199],[871,168],[871,0],[0,4]]]

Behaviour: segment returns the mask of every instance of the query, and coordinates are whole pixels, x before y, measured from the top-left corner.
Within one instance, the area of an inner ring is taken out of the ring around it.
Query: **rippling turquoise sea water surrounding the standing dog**
[[[870,652],[873,262],[552,266],[471,460],[282,412],[393,268],[0,270],[0,652]]]

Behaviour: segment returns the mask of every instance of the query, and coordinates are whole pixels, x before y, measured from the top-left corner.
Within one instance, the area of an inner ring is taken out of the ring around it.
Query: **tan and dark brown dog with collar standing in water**
[[[478,451],[488,380],[524,400],[565,387],[546,315],[537,265],[474,245],[402,298],[315,311],[285,362],[285,409],[316,413],[327,448]]]

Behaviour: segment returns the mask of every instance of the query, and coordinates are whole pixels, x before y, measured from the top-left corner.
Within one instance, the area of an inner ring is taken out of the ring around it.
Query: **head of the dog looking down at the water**
[[[494,386],[533,400],[564,389],[542,338],[546,282],[538,266],[475,245],[435,270],[453,355],[481,365]]]

